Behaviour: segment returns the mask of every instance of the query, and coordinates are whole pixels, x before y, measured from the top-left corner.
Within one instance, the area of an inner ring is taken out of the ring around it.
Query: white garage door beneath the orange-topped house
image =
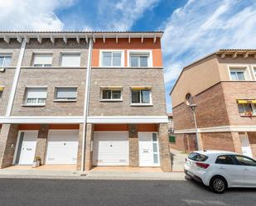
[[[128,132],[94,132],[93,165],[129,165]]]

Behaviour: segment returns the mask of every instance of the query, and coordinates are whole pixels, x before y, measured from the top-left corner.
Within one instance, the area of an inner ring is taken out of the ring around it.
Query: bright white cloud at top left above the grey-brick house
[[[0,0],[1,31],[61,31],[55,11],[73,0]]]

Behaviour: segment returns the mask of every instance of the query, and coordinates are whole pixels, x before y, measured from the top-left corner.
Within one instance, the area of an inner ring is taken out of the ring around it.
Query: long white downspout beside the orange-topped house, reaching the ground
[[[81,171],[85,170],[85,136],[86,136],[86,122],[89,113],[89,88],[90,88],[90,74],[91,74],[91,57],[93,52],[93,41],[89,38],[89,49],[88,49],[88,60],[87,60],[87,71],[86,71],[86,82],[85,82],[85,107],[84,107],[84,125],[83,125],[83,141],[82,141],[82,162]]]

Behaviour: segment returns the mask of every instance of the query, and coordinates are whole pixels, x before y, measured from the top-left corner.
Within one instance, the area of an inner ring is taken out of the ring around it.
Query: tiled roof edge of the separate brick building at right
[[[193,61],[191,64],[183,67],[183,69],[181,70],[181,74],[179,75],[178,79],[176,80],[176,83],[173,85],[169,95],[171,95],[173,89],[175,89],[177,82],[181,78],[181,75],[186,68],[190,67],[191,65],[195,65],[196,63],[198,63],[202,60],[205,60],[212,55],[220,55],[221,58],[225,58],[225,55],[235,55],[235,57],[236,57],[236,55],[247,55],[247,56],[254,55],[254,57],[256,58],[256,49],[220,49],[220,50],[215,51],[214,53],[211,53],[210,55],[205,55],[204,57],[200,58],[199,60]]]

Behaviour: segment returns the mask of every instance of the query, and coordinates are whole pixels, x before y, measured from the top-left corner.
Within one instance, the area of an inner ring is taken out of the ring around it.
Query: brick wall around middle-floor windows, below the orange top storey
[[[100,86],[122,86],[122,102],[100,102]],[[151,86],[152,107],[131,107],[130,86]],[[89,116],[167,115],[163,69],[92,69]]]

